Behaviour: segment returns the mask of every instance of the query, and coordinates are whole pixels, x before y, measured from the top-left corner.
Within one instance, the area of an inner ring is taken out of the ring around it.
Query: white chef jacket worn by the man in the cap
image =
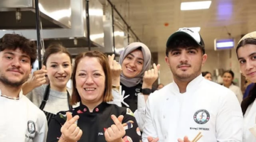
[[[242,142],[242,110],[230,89],[205,80],[192,80],[181,94],[175,82],[154,92],[146,102],[142,141],[158,137],[173,142],[201,131],[198,142]]]

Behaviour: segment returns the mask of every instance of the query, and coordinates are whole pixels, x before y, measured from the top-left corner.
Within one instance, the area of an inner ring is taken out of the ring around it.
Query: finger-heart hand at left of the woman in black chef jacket
[[[67,121],[61,127],[60,131],[62,133],[61,138],[63,141],[76,142],[79,141],[82,136],[82,130],[77,126],[75,121],[78,121],[79,116],[72,116],[70,112],[66,112]]]

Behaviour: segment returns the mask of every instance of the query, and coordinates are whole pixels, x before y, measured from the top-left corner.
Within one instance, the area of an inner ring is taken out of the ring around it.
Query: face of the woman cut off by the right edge
[[[256,82],[256,45],[246,44],[238,49],[240,70],[251,82]]]

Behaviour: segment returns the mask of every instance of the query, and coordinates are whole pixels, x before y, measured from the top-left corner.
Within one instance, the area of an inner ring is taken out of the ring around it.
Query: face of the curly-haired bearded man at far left
[[[31,72],[31,58],[19,48],[0,52],[0,82],[12,87],[21,87]]]

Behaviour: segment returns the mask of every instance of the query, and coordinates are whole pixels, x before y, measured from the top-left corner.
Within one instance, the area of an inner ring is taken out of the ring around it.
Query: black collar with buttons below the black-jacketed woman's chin
[[[101,113],[102,111],[104,111],[104,109],[107,107],[107,105],[109,105],[109,104],[102,102],[97,107],[95,107],[95,109],[93,109],[92,114]],[[85,114],[85,113],[90,113],[90,110],[88,109],[88,107],[86,107],[84,104],[82,104],[82,102],[80,102],[78,114]]]

